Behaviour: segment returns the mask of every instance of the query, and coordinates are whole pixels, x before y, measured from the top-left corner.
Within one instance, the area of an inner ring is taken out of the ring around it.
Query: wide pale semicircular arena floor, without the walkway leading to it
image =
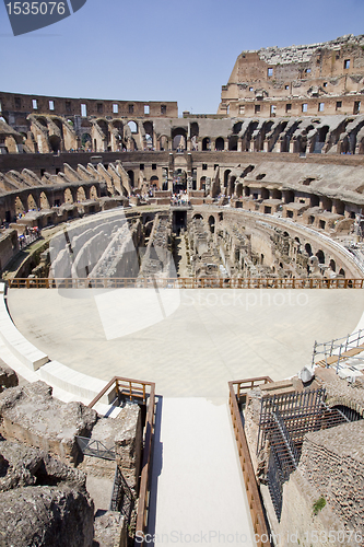
[[[353,331],[364,291],[11,289],[8,306],[30,342],[79,372],[227,399],[228,381],[287,377],[310,362],[315,340]]]

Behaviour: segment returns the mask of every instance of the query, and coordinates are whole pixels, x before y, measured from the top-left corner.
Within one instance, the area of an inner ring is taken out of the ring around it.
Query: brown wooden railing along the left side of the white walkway
[[[130,399],[140,399],[143,404],[146,404],[146,396],[149,396],[136,525],[136,537],[142,538],[144,537],[146,528],[150,482],[152,475],[151,456],[154,431],[155,384],[153,382],[143,382],[140,380],[114,376],[113,380],[110,380],[109,383],[99,392],[99,394],[90,403],[89,407],[92,408],[94,405],[96,405],[96,403],[103,397],[103,395],[105,395],[110,388],[116,389],[116,395],[124,395],[129,397]],[[136,546],[143,546],[143,543],[141,543],[140,540],[136,540]]]

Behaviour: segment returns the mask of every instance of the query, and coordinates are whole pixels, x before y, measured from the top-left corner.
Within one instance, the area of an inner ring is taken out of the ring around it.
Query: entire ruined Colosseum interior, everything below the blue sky
[[[228,484],[248,545],[363,545],[363,98],[364,35],[243,51],[214,115],[0,92],[12,544],[162,545],[180,473],[196,529]]]

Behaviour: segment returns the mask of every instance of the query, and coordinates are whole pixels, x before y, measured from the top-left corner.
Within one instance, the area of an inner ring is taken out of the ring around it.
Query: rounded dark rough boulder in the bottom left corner
[[[62,485],[0,493],[1,547],[91,547],[93,502]]]

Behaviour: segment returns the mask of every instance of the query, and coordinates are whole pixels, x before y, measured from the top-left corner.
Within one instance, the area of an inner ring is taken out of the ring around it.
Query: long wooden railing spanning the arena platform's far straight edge
[[[13,278],[10,289],[363,289],[364,279],[326,278]]]

